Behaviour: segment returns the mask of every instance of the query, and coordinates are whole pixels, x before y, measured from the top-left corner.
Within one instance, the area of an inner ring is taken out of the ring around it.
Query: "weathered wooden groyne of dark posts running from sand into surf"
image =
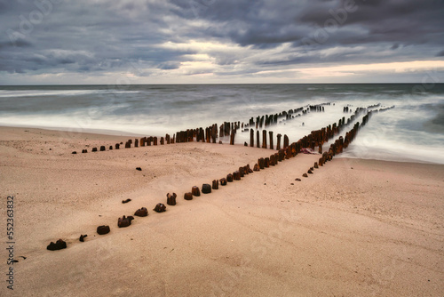
[[[234,170],[233,173],[222,173],[223,177],[220,179],[213,180],[211,183],[203,183],[202,188],[198,188],[197,186],[191,187],[191,192],[184,193],[184,200],[192,200],[194,197],[200,197],[201,192],[203,194],[210,194],[212,190],[218,190],[219,184],[220,186],[226,186],[229,183],[232,182],[238,182],[242,181],[242,179],[249,176],[251,173],[258,172],[261,170],[266,170],[270,166],[279,165],[280,162],[283,162],[287,159],[290,159],[292,157],[296,157],[299,153],[304,153],[306,149],[310,149],[311,153],[314,152],[314,149],[317,147],[320,152],[320,158],[317,162],[314,162],[313,166],[310,167],[306,173],[303,173],[303,177],[307,178],[308,174],[313,174],[315,169],[319,169],[320,166],[325,165],[327,162],[331,161],[333,157],[337,156],[338,154],[341,154],[344,149],[348,148],[349,145],[352,143],[352,141],[356,138],[358,132],[362,127],[367,125],[369,123],[369,120],[371,119],[372,115],[377,114],[379,112],[384,112],[385,110],[394,108],[379,108],[379,105],[370,106],[368,108],[356,108],[354,111],[354,114],[351,115],[346,121],[345,116],[340,118],[337,123],[329,124],[326,127],[322,127],[319,130],[315,130],[310,132],[310,134],[305,135],[303,138],[297,140],[296,142],[289,143],[289,138],[287,135],[283,135],[283,147],[281,148],[281,134],[278,133],[276,135],[277,141],[276,141],[276,151],[271,154],[270,156],[266,157],[260,157],[258,158],[258,162],[253,166],[254,169],[252,170],[250,168],[250,164],[248,165],[242,165],[239,166],[236,170]],[[374,109],[375,108],[375,109]],[[377,109],[379,108],[379,109]],[[369,110],[372,109],[372,110]],[[308,110],[308,109],[307,109]],[[307,112],[305,110],[305,112]],[[313,106],[310,107],[310,110],[316,110],[318,112],[322,112],[324,110],[323,106]],[[348,114],[349,109],[348,107],[344,109],[344,111]],[[304,112],[304,110],[302,110]],[[361,116],[361,114],[365,114],[361,118],[361,123],[356,122],[355,119]],[[285,116],[288,116],[289,113],[287,113]],[[279,116],[273,116],[273,121],[277,120]],[[249,125],[256,124],[257,127],[261,127],[262,125],[269,125],[272,120],[270,120],[272,116],[268,117],[262,117],[257,119],[256,122],[251,121]],[[354,124],[353,124],[354,123]],[[345,128],[349,125],[353,124],[353,128],[345,132],[345,136],[339,136],[336,140],[334,140],[330,146],[328,151],[322,152],[322,146],[324,143],[327,143],[329,140],[334,139],[337,137],[337,135],[340,132],[343,132]],[[239,129],[239,127],[244,127],[243,123],[240,122],[237,123],[228,123],[225,122],[224,124],[218,126],[218,124],[212,124],[211,126],[203,129],[203,128],[196,128],[196,129],[188,129],[186,131],[177,132],[173,135],[172,139],[170,138],[169,134],[165,135],[165,138],[160,138],[160,145],[164,144],[173,144],[173,143],[182,143],[182,142],[190,142],[190,141],[202,141],[202,142],[212,142],[216,143],[216,139],[218,138],[218,135],[221,137],[224,136],[230,136],[230,142],[234,144],[234,135],[236,131]],[[266,136],[267,131],[264,129],[262,132],[263,140],[262,140],[262,148],[267,148],[267,140]],[[268,131],[269,139],[270,139],[270,148],[274,149],[274,140],[273,140],[273,132]],[[257,147],[259,147],[259,131],[257,130]],[[149,147],[151,145],[157,146],[157,137],[143,137],[140,139],[132,139],[127,140],[125,142],[125,148],[131,148],[133,145],[134,148],[139,147]],[[115,149],[120,149],[121,143],[115,144]],[[250,147],[254,148],[254,129],[250,128]],[[113,149],[112,146],[109,147],[109,149]],[[93,152],[97,152],[98,148],[92,148]],[[105,151],[105,146],[100,146],[100,151]],[[87,149],[82,150],[83,153],[87,153]],[[140,169],[140,168],[138,168]],[[222,175],[221,174],[221,175]],[[297,181],[301,181],[300,179],[296,179]],[[177,195],[176,193],[167,193],[166,194],[166,204],[170,206],[177,205]],[[127,199],[127,201],[131,201],[131,199]],[[163,203],[158,203],[155,205],[154,211],[156,213],[163,213],[167,211],[167,207]],[[146,207],[139,208],[134,213],[134,216],[136,217],[147,217],[148,212]],[[135,220],[133,216],[125,216],[119,217],[117,220],[117,227],[118,228],[126,228],[131,226],[131,221]],[[138,219],[139,220],[139,219]],[[100,225],[97,227],[96,232],[99,235],[105,235],[110,232],[109,225]],[[87,235],[81,235],[79,241],[84,242]],[[55,244],[51,243],[47,246],[48,250],[54,251],[58,249],[67,248],[67,243],[63,241],[62,239],[59,239]]]

